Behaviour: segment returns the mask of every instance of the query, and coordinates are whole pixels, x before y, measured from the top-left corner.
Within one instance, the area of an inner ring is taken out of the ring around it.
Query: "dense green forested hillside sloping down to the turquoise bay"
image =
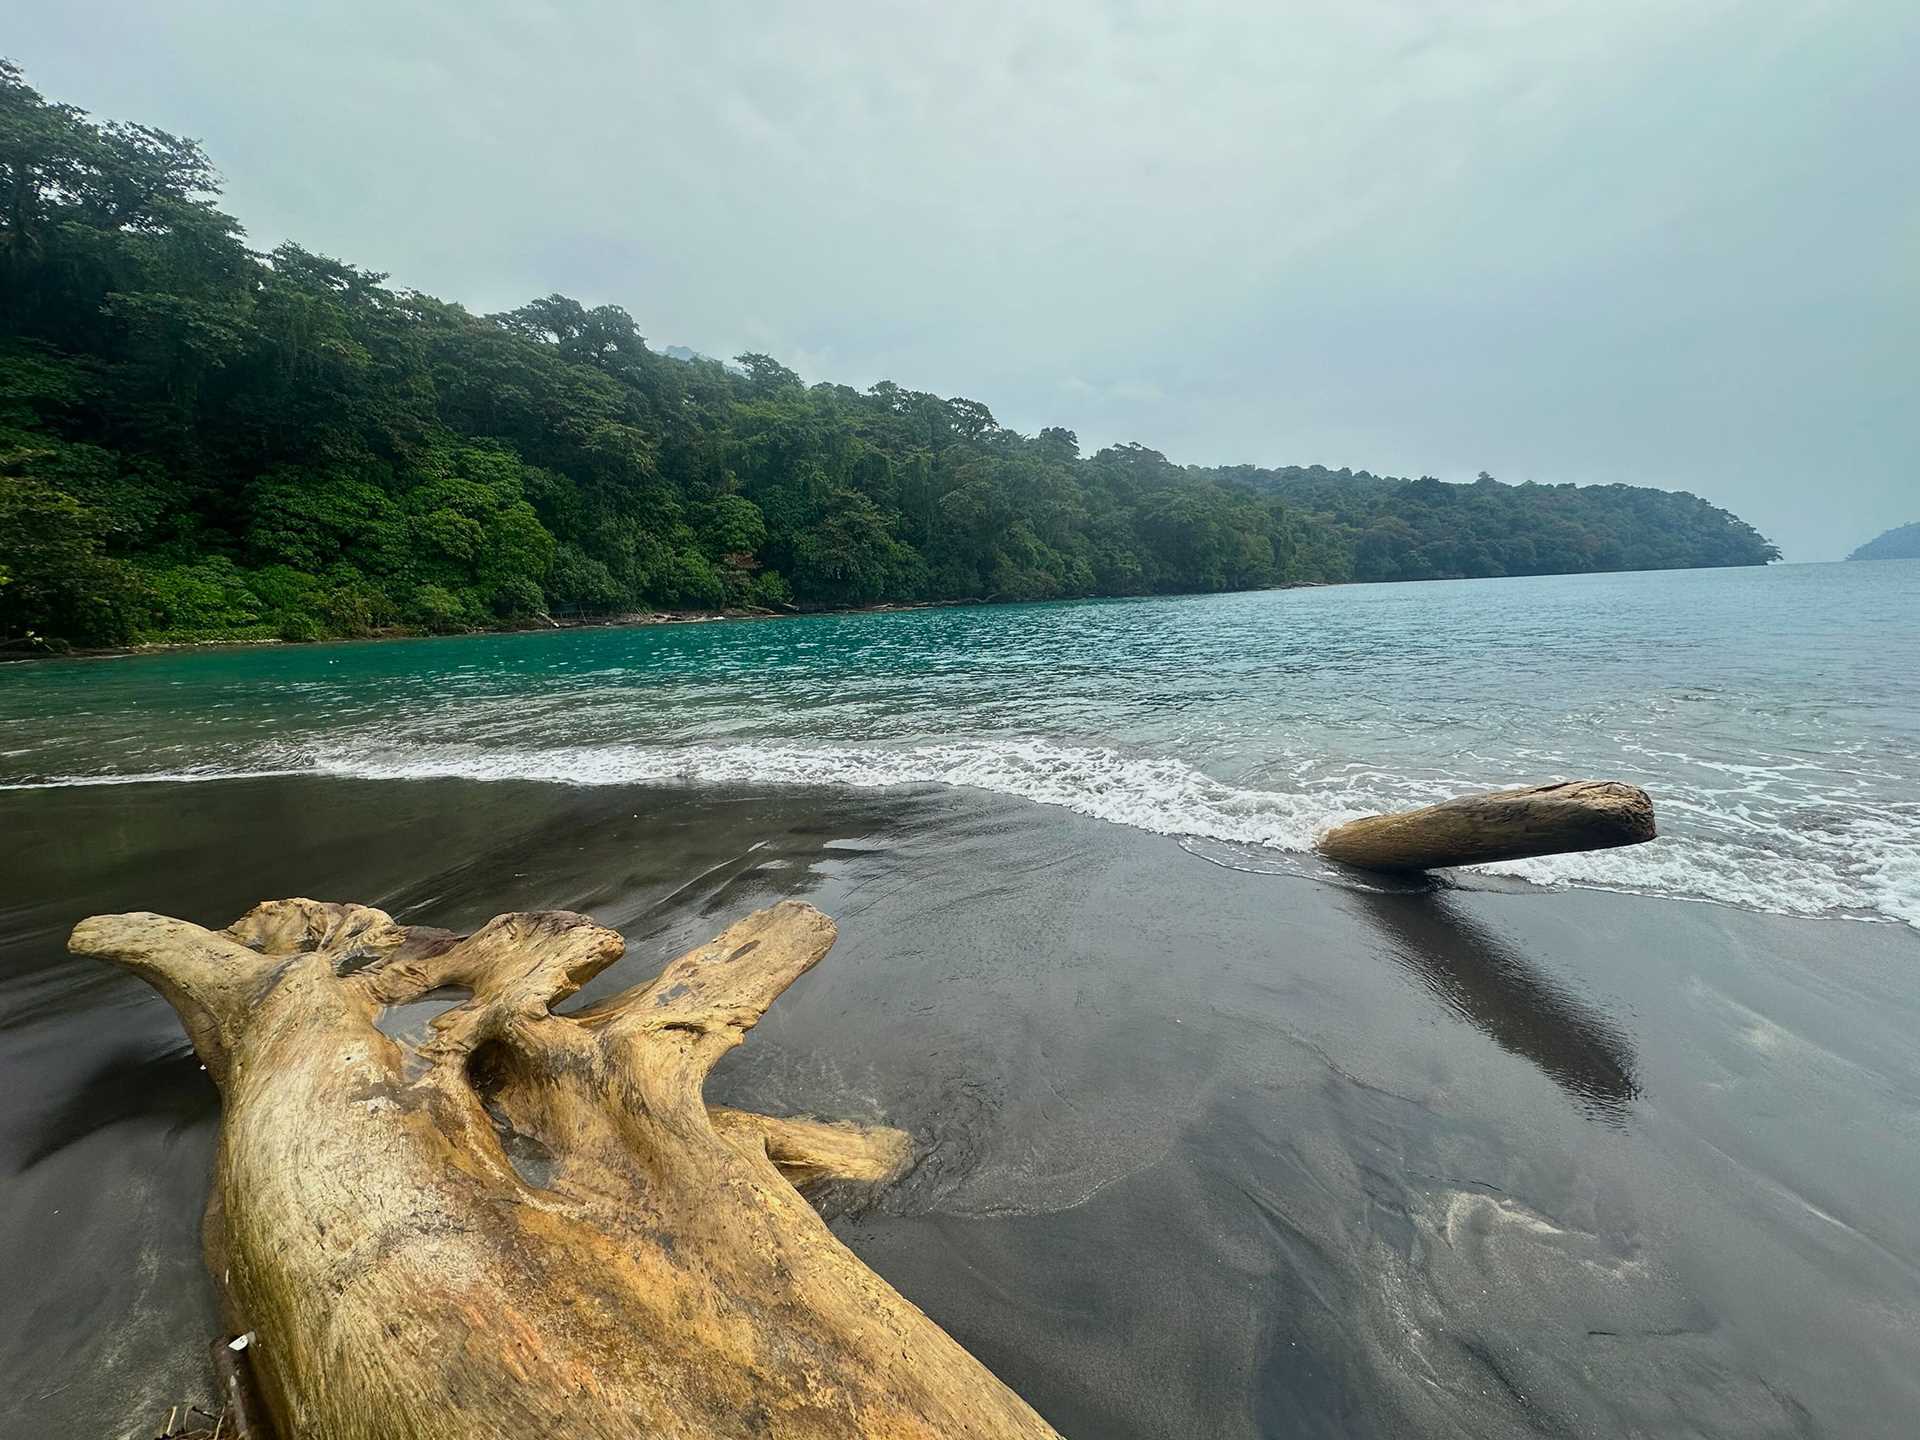
[[[985,405],[248,250],[202,150],[0,67],[0,637],[1048,599],[1774,549],[1692,495],[1083,457]]]

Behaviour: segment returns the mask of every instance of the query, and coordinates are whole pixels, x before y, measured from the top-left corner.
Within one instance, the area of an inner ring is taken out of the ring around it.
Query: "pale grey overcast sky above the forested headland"
[[[12,0],[261,248],[1192,463],[1920,518],[1920,4]]]

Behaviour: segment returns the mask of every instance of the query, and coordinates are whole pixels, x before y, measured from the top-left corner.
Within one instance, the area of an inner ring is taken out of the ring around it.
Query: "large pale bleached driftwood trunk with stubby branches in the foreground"
[[[831,943],[776,904],[568,1016],[624,943],[564,912],[461,939],[276,900],[71,945],[167,996],[221,1089],[207,1260],[282,1440],[1058,1440],[793,1188],[895,1175],[902,1133],[701,1100]],[[445,987],[424,1039],[376,1029]]]

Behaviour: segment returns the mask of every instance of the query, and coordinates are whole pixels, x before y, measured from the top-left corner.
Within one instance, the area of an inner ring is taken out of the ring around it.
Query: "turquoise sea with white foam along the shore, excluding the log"
[[[179,651],[0,670],[0,781],[972,785],[1288,870],[1599,776],[1659,843],[1492,870],[1920,925],[1916,660],[1899,561]]]

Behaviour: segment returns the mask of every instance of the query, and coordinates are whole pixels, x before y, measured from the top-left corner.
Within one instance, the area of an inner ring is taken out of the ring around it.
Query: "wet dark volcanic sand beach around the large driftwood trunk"
[[[252,780],[0,799],[0,1432],[205,1400],[215,1096],[69,925],[280,895],[841,922],[710,1094],[925,1156],[843,1238],[1077,1440],[1908,1436],[1920,941],[1369,895],[968,793]]]

